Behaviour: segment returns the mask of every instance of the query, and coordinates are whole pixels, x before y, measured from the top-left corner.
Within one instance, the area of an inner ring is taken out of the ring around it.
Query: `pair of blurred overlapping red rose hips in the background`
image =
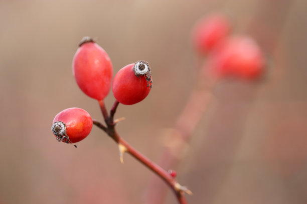
[[[218,77],[259,78],[265,66],[260,46],[248,35],[231,35],[231,30],[221,13],[200,19],[192,35],[196,51],[207,56],[205,66]]]

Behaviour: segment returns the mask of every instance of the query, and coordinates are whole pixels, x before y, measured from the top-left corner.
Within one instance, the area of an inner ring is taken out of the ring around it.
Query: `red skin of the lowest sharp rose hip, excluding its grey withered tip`
[[[71,107],[59,112],[53,119],[53,123],[62,121],[66,125],[66,133],[72,143],[81,141],[91,131],[93,120],[90,114],[84,109]],[[66,143],[67,140],[64,140]]]

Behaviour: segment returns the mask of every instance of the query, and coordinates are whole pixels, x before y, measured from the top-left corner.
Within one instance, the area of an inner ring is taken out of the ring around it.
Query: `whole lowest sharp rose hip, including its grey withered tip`
[[[71,107],[59,112],[53,119],[51,130],[58,141],[75,143],[91,131],[93,120],[84,109]]]

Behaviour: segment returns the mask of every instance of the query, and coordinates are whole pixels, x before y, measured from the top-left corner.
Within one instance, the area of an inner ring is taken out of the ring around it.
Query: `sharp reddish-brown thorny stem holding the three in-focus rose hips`
[[[150,159],[148,159],[146,156],[141,154],[139,151],[137,151],[135,148],[133,148],[130,144],[128,144],[124,139],[122,139],[119,134],[115,130],[115,123],[113,120],[114,113],[116,111],[116,108],[118,106],[119,102],[115,100],[110,115],[107,115],[107,111],[104,105],[103,101],[99,101],[100,109],[102,111],[102,114],[105,117],[105,122],[107,124],[107,127],[105,127],[103,124],[101,124],[99,121],[93,119],[93,124],[101,128],[103,131],[105,131],[110,137],[114,139],[118,145],[122,145],[124,148],[120,148],[120,153],[127,152],[134,158],[136,158],[138,161],[140,161],[142,164],[144,164],[147,168],[149,168],[151,171],[155,172],[160,178],[162,178],[175,192],[176,197],[180,204],[188,204],[184,192],[191,193],[190,190],[188,190],[185,186],[180,185],[177,180],[172,177],[166,170],[164,170],[162,167],[160,167],[158,164],[152,162]]]

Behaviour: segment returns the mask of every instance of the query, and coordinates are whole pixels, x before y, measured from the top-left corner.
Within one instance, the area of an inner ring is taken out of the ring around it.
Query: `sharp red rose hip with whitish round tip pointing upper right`
[[[116,100],[125,105],[132,105],[148,95],[151,84],[148,62],[137,61],[124,66],[116,73],[112,90]]]

